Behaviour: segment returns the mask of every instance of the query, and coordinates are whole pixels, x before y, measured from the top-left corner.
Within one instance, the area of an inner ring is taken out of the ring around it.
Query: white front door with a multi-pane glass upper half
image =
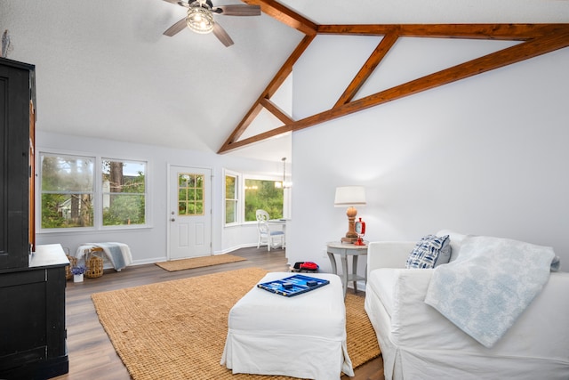
[[[170,166],[169,260],[212,255],[212,171]]]

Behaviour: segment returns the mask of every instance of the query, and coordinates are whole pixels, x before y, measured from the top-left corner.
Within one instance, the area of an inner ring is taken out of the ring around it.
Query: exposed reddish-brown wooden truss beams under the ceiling
[[[260,94],[252,108],[245,114],[236,129],[228,137],[218,153],[266,140],[283,133],[298,131],[312,125],[325,123],[329,120],[343,117],[363,109],[369,109],[388,101],[394,101],[413,93],[446,85],[466,77],[472,77],[492,69],[499,69],[518,61],[524,61],[535,56],[549,53],[569,46],[569,24],[395,24],[395,25],[318,25],[315,22],[293,12],[274,0],[243,0],[246,4],[258,4],[261,11],[295,28],[305,34],[301,43],[291,56],[284,62],[276,76]],[[308,48],[318,34],[327,35],[361,35],[383,36],[372,55],[365,61],[364,66],[357,72],[344,93],[336,101],[332,109],[317,115],[294,121],[270,101],[278,87],[293,71],[293,65]],[[520,44],[485,55],[472,61],[462,63],[449,69],[438,71],[426,77],[421,77],[397,85],[379,93],[366,96],[357,101],[353,98],[365,81],[373,74],[373,70],[396,43],[397,38],[430,37],[430,38],[469,38],[522,41]],[[259,115],[262,108],[267,109],[284,125],[255,136],[239,140],[252,120]]]

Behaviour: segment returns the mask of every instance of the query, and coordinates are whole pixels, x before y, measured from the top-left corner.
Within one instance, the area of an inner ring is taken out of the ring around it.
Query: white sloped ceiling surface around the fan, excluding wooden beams
[[[569,22],[569,0],[286,0],[319,24]],[[241,4],[218,0],[214,5]],[[162,0],[0,0],[8,58],[36,65],[42,131],[218,151],[301,33],[262,14],[217,15],[235,44],[188,29]],[[291,138],[237,150],[290,158]]]

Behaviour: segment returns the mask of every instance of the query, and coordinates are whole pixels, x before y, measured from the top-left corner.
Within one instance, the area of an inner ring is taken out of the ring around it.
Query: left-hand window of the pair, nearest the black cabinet
[[[40,154],[41,228],[92,227],[94,158]]]

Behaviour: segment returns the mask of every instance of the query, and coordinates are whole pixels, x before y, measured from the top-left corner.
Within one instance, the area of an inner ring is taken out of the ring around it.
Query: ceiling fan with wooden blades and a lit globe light
[[[196,33],[210,33],[218,37],[222,44],[231,46],[233,40],[220,24],[213,20],[213,13],[225,16],[260,16],[259,5],[230,4],[213,6],[210,0],[164,0],[188,8],[188,16],[172,25],[165,32],[165,36],[173,36],[183,28],[190,28]]]

